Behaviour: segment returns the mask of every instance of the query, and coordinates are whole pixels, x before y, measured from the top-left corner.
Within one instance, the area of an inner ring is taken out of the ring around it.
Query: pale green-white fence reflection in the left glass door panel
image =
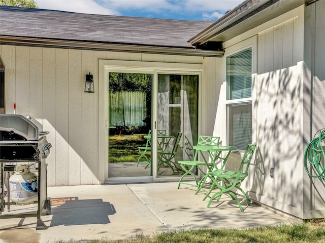
[[[146,94],[144,92],[109,93],[110,126],[146,126]]]

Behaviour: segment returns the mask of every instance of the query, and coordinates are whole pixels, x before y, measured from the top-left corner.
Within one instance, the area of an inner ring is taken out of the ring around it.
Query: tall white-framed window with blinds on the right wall
[[[226,59],[228,144],[245,150],[252,137],[252,51]]]

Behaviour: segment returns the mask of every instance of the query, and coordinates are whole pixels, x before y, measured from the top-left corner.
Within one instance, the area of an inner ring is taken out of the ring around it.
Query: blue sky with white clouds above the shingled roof
[[[117,16],[215,21],[244,0],[35,0],[40,9]]]

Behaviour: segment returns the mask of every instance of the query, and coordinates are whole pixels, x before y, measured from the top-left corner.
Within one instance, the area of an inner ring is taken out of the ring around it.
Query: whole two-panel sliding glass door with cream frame
[[[185,69],[187,64],[178,64],[176,72],[175,68],[137,68],[134,62],[132,67],[105,62],[110,65],[103,75],[106,84],[101,85],[105,142],[100,143],[100,151],[106,150],[102,158],[108,159],[107,182],[183,175],[177,162],[193,159],[198,140],[201,71]]]

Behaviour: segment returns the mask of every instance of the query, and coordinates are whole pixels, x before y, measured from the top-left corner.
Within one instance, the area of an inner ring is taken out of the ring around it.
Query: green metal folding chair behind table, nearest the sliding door
[[[199,136],[197,145],[219,145],[219,140],[220,140],[220,137],[202,136],[201,135],[201,136]],[[198,152],[199,152],[198,150],[195,151],[193,160],[178,161],[178,164],[181,166],[183,171],[185,171],[185,173],[179,179],[177,189],[179,189],[179,186],[181,184],[198,187],[199,186],[198,179],[197,179],[197,176],[193,173],[193,170],[195,168],[198,168],[198,170],[202,173],[202,175],[205,175],[205,172],[202,170],[201,166],[208,166],[208,171],[210,171],[210,169],[213,167],[212,163],[207,164],[204,161],[198,160]],[[183,181],[183,179],[187,175],[191,175],[194,178],[196,184],[192,184],[187,181]]]

